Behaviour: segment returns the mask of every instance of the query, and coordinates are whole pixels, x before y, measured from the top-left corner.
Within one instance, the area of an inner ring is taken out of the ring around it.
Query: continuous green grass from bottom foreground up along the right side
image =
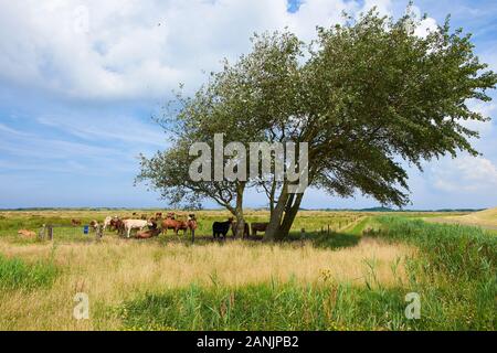
[[[399,280],[394,288],[382,288],[374,280],[372,261],[366,288],[329,282],[326,278],[319,286],[294,281],[242,288],[191,286],[147,293],[124,303],[117,308],[124,329],[496,329],[496,237],[476,227],[427,224],[399,216],[370,218],[351,232],[366,227],[374,229],[373,236],[419,248],[419,255],[408,259],[409,282]],[[308,236],[326,243],[324,235]],[[340,235],[330,237],[337,236]],[[409,292],[420,295],[420,320],[404,315]]]

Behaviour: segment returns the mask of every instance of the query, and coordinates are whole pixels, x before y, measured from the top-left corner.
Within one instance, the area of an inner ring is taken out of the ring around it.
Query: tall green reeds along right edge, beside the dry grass
[[[409,261],[413,291],[422,295],[423,328],[497,328],[497,238],[478,227],[380,217],[382,236],[415,245]]]

